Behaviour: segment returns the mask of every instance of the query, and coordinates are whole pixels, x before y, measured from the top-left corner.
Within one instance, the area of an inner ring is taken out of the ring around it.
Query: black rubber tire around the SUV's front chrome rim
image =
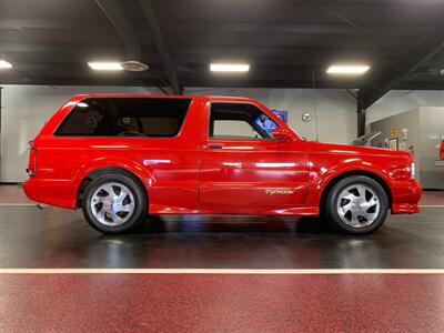
[[[363,221],[364,226],[351,226],[343,221],[343,219],[347,220],[349,218],[347,216],[341,218],[339,212],[340,209],[337,206],[343,204],[342,201],[341,203],[339,202],[340,195],[344,190],[353,185],[364,185],[371,189],[377,196],[380,203],[380,210],[377,213],[375,213],[376,216],[374,218],[373,222],[371,222],[371,224],[369,225],[365,224],[367,223],[367,221],[371,220],[365,221],[364,219]],[[389,213],[389,198],[387,194],[385,193],[385,190],[381,186],[379,182],[365,175],[347,176],[335,183],[327,193],[323,204],[324,205],[321,208],[322,218],[325,219],[336,231],[351,235],[369,234],[375,231],[384,223]]]

